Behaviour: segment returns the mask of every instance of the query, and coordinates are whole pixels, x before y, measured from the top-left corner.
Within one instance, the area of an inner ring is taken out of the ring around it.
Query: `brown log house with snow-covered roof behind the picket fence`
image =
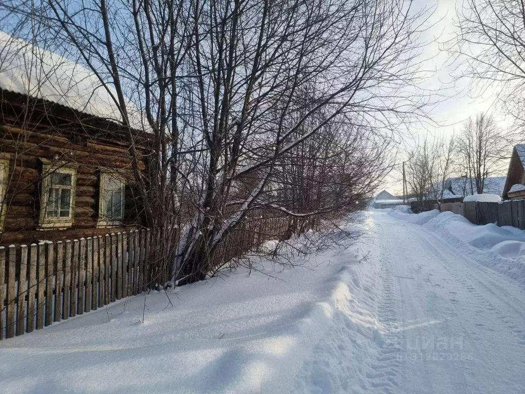
[[[146,141],[138,110],[125,127],[110,93],[86,68],[0,32],[0,244],[141,224],[129,149]]]

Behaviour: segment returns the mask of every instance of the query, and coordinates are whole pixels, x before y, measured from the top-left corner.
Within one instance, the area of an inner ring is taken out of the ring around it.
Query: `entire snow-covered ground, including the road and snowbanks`
[[[373,211],[303,267],[152,293],[145,324],[137,296],[2,341],[2,392],[523,393],[525,232],[461,219]]]

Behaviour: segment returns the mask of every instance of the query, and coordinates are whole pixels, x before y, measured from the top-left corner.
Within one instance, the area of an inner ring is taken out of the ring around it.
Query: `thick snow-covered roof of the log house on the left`
[[[112,87],[108,91],[95,74],[74,61],[2,31],[0,88],[122,123]],[[138,108],[130,101],[126,108],[131,127],[142,130]]]

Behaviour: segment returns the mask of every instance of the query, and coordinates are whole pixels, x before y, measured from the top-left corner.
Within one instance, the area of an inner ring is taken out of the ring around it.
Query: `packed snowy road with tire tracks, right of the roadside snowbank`
[[[523,289],[424,227],[373,214],[380,320],[392,341],[386,392],[525,392]]]

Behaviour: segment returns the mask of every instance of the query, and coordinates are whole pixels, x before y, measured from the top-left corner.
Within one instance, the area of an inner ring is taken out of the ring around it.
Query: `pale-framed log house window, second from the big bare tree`
[[[77,170],[59,164],[44,164],[42,171],[40,227],[72,226]]]

